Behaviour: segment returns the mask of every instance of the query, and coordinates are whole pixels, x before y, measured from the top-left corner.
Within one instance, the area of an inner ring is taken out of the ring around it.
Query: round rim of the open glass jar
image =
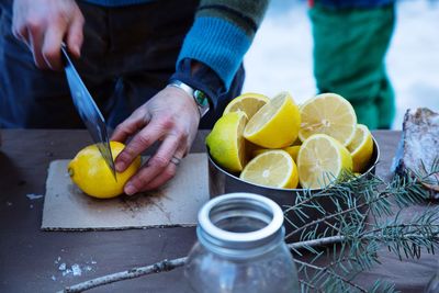
[[[252,232],[236,233],[222,229],[211,221],[211,212],[216,206],[219,206],[230,200],[248,201],[262,204],[263,207],[272,215],[272,218],[267,226]],[[255,193],[235,192],[219,195],[204,204],[199,212],[199,224],[205,233],[218,240],[235,244],[252,243],[271,238],[274,234],[279,233],[283,225],[283,212],[274,201],[266,196]]]

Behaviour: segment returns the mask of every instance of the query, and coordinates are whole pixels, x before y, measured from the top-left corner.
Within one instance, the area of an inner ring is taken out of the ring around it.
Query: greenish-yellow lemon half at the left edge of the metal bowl
[[[212,158],[223,168],[239,172],[246,165],[246,142],[243,137],[247,115],[230,112],[218,119],[206,137]]]

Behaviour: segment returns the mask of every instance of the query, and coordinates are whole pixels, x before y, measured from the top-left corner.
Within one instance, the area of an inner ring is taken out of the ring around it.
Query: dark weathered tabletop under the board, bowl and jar
[[[40,229],[48,164],[72,158],[91,143],[86,131],[1,131],[0,146],[0,292],[55,292],[103,274],[185,256],[195,241],[194,228],[112,232],[42,232]],[[192,151],[204,149],[200,132]],[[374,132],[381,148],[378,174],[389,170],[401,133]],[[421,212],[413,206],[406,217]],[[358,277],[371,285],[383,279],[403,292],[421,292],[437,270],[438,257],[399,261],[383,248],[382,264]],[[67,268],[78,264],[80,275]],[[64,272],[64,275],[63,275]],[[109,284],[90,292],[185,292],[182,269]]]

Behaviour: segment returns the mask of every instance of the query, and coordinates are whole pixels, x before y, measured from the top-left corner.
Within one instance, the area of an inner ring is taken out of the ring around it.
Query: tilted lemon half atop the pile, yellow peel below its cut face
[[[264,148],[290,146],[301,126],[299,106],[290,93],[281,92],[249,120],[244,137]]]

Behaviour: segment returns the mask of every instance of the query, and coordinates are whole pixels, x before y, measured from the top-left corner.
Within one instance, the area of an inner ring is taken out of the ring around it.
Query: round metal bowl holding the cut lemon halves
[[[372,137],[373,138],[373,137]],[[226,170],[224,170],[219,165],[215,162],[215,160],[211,157],[209,154],[209,192],[211,198],[215,198],[225,193],[232,193],[232,192],[250,192],[250,193],[256,193],[260,195],[264,195],[271,200],[273,200],[275,203],[278,203],[284,211],[286,210],[288,206],[294,205],[295,198],[297,194],[303,194],[305,192],[304,189],[277,189],[277,188],[270,188],[270,187],[263,187],[263,185],[258,185],[254,184],[250,182],[246,182],[241,179],[239,179],[239,176],[236,173],[230,173]],[[372,154],[372,159],[370,160],[370,165],[368,167],[368,170],[363,172],[360,177],[368,177],[370,174],[375,173],[375,165],[378,164],[380,159],[380,148],[379,145],[373,138],[373,154]],[[307,192],[319,192],[322,189],[313,189],[313,190],[306,190]],[[319,204],[326,210],[326,211],[335,211],[336,205],[329,198],[319,198],[318,199]],[[306,209],[306,214],[309,216],[307,219],[308,222],[312,222],[322,214],[316,211],[315,209],[312,207],[304,207]],[[289,217],[289,219],[292,223],[302,223],[302,221],[293,213],[285,214],[285,216]],[[301,226],[301,225],[297,225]],[[327,226],[320,225],[318,230],[323,232]],[[285,228],[286,228],[286,234],[293,230],[293,226],[289,224],[289,222],[285,222]],[[299,240],[299,235],[295,237],[291,237],[288,239],[289,241],[297,241]]]

